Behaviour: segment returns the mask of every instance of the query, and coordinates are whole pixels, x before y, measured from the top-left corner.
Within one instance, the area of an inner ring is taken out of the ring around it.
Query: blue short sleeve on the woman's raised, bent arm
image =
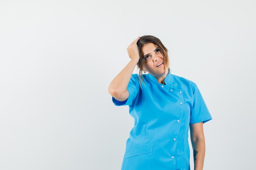
[[[112,97],[112,101],[116,106],[124,106],[124,105],[128,105],[128,106],[132,106],[134,104],[134,101],[137,97],[137,94],[139,92],[139,75],[138,74],[132,74],[131,78],[130,78],[130,82],[127,86],[127,90],[129,92],[129,97],[127,100],[125,101],[118,101],[117,99],[115,99],[114,97]]]

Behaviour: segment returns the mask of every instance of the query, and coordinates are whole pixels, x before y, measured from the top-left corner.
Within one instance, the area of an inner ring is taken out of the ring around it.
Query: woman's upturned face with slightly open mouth
[[[141,48],[143,70],[156,78],[165,77],[164,58],[158,46],[149,42]]]

